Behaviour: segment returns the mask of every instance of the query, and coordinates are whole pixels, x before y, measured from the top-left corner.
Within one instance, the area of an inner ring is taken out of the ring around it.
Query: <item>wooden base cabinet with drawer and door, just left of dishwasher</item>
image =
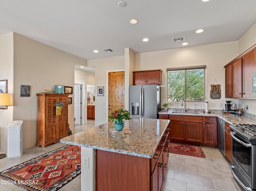
[[[218,125],[216,117],[204,116],[204,143],[218,147]]]

